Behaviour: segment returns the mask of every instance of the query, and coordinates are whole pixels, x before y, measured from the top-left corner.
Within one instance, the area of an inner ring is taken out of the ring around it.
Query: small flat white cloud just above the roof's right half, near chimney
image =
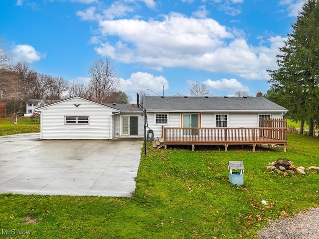
[[[217,81],[206,80],[203,82],[208,88],[214,91],[225,91],[235,93],[236,91],[249,92],[249,88],[238,82],[236,79],[221,79]]]

